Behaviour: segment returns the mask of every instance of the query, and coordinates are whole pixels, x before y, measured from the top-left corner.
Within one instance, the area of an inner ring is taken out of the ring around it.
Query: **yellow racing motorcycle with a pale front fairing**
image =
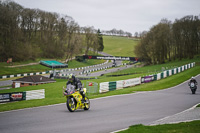
[[[87,89],[83,88],[83,91],[86,94]],[[77,109],[89,110],[90,100],[88,99],[88,97],[85,97],[85,102],[82,103],[82,95],[78,90],[75,90],[75,86],[69,84],[67,85],[66,89],[63,87],[63,94],[64,96],[66,96],[66,105],[70,112],[74,112]]]

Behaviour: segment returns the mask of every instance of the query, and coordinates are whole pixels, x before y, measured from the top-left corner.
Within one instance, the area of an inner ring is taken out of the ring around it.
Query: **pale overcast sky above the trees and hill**
[[[25,8],[38,8],[71,16],[80,26],[142,32],[167,18],[200,15],[200,0],[14,0]]]

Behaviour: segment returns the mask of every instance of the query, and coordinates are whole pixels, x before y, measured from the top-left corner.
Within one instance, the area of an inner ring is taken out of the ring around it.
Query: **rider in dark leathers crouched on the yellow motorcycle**
[[[81,81],[78,78],[76,78],[73,74],[70,74],[68,76],[68,78],[69,78],[69,80],[67,81],[66,85],[71,84],[71,85],[75,86],[75,89],[79,89],[79,92],[83,97],[81,102],[84,103],[85,102],[85,92],[83,91],[83,87],[82,87]]]

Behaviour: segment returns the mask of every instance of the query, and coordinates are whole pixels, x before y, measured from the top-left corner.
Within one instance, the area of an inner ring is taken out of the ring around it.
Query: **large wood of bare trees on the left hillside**
[[[0,1],[0,61],[36,58],[65,58],[103,51],[100,30],[80,27],[67,15],[24,8]]]

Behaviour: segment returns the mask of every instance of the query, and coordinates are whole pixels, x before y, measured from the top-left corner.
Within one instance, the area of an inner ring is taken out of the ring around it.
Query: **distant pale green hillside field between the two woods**
[[[103,52],[113,56],[135,57],[134,46],[138,41],[128,37],[103,36]]]

